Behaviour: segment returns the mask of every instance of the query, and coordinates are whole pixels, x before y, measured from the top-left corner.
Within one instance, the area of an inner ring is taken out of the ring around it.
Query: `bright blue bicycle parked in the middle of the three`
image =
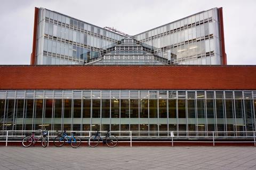
[[[78,148],[81,145],[81,139],[75,137],[75,132],[71,133],[71,136],[68,136],[66,131],[60,133],[53,140],[53,143],[56,147],[62,147],[64,143],[70,143],[72,148]]]

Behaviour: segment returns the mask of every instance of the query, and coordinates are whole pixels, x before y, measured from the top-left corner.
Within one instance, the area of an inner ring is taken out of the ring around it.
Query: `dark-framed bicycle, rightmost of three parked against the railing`
[[[107,132],[105,139],[101,139],[100,136],[100,132],[97,131],[97,133],[95,135],[92,135],[89,137],[88,139],[88,144],[90,147],[97,147],[100,143],[100,141],[103,142],[103,144],[107,144],[108,147],[115,147],[118,143],[118,140],[116,138],[116,136],[114,135],[110,135],[109,134],[110,131]]]

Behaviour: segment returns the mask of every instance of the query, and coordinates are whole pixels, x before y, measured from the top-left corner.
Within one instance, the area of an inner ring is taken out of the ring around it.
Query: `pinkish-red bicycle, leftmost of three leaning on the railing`
[[[35,132],[32,132],[31,136],[25,136],[22,139],[23,147],[29,147],[31,144],[35,145],[37,141],[41,140],[41,138],[42,138],[42,141],[41,141],[42,147],[44,147],[44,148],[47,147],[47,145],[48,145],[47,133],[48,132],[45,130],[46,129],[44,129],[44,131],[42,131],[42,129],[38,129],[38,131],[42,131],[42,133],[38,137],[35,137]]]

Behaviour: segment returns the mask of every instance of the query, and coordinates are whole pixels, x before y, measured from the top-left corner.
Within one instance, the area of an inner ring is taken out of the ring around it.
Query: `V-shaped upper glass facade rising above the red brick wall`
[[[43,8],[38,18],[36,64],[222,64],[217,8],[135,36]]]

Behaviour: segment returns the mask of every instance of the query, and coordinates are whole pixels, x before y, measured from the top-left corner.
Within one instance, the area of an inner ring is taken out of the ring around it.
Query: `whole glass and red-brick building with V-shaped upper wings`
[[[256,66],[226,66],[221,8],[135,36],[36,8],[34,28],[31,66],[0,66],[3,130],[255,131]]]

